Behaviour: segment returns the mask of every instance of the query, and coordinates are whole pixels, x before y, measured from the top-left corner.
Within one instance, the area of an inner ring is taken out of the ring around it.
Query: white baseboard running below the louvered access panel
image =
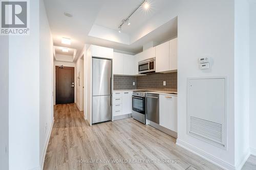
[[[184,148],[185,150],[189,151],[189,152],[192,152],[194,154],[196,154],[197,156],[200,156],[201,158],[223,168],[223,169],[233,169],[233,170],[236,170],[236,167],[234,167],[233,165],[215,157],[215,156],[212,156],[206,152],[204,152],[203,150],[201,149],[198,149],[196,147],[194,147],[193,145],[190,145],[189,143],[187,142],[184,142],[180,139],[177,139],[176,141],[176,144],[181,147],[181,148]]]

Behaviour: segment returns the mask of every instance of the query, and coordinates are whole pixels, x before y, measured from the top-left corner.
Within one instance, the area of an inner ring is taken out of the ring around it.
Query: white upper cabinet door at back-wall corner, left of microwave
[[[123,75],[134,75],[134,59],[133,55],[123,54]]]

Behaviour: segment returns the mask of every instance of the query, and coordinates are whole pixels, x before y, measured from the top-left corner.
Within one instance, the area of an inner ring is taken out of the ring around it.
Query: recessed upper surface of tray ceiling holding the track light
[[[118,30],[122,19],[126,18],[141,2],[142,0],[105,1],[98,13],[95,24]],[[155,14],[161,12],[162,9],[168,5],[169,0],[148,0],[148,3],[150,4],[150,9],[145,10],[143,6],[141,6],[130,18],[131,25],[123,25],[122,32],[129,35],[133,34],[144,22],[151,19]]]

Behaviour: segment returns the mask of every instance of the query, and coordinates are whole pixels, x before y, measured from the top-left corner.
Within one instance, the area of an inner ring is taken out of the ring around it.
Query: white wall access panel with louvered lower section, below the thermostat
[[[188,134],[226,148],[226,78],[188,79]]]

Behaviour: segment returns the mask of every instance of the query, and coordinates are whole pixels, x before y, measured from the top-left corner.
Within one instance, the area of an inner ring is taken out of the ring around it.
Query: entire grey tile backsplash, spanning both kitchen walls
[[[160,91],[177,91],[177,72],[152,74],[146,76],[114,76],[114,90],[147,89]],[[163,85],[166,82],[166,86]],[[135,82],[135,86],[133,86]]]

